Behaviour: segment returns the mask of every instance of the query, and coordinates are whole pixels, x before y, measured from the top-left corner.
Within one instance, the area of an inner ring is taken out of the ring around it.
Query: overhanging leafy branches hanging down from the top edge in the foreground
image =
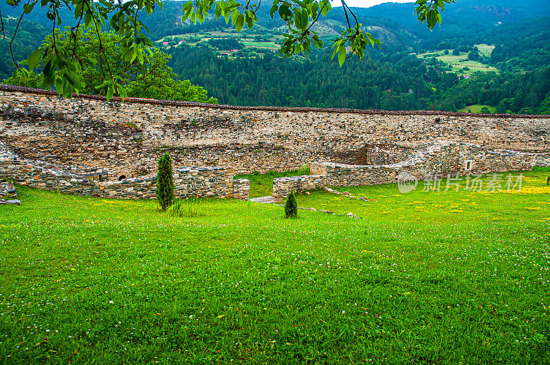
[[[25,0],[23,0],[25,1]],[[6,0],[8,5],[18,5],[21,0]],[[419,21],[426,22],[430,29],[437,23],[441,23],[441,12],[445,4],[454,3],[454,0],[417,0],[415,3],[415,14]],[[74,12],[74,20],[69,32],[71,42],[58,43],[53,41],[49,45],[44,45],[36,49],[27,60],[22,61],[16,66],[21,71],[23,77],[29,75],[29,71],[34,70],[39,64],[43,64],[43,77],[47,85],[55,85],[58,93],[67,97],[72,92],[78,93],[85,87],[78,78],[85,67],[94,65],[101,59],[108,63],[107,52],[101,43],[99,34],[102,30],[112,30],[118,34],[120,42],[120,54],[124,60],[133,63],[146,63],[148,57],[147,49],[153,47],[151,40],[144,34],[148,28],[142,22],[140,14],[144,11],[149,15],[158,8],[162,9],[162,0],[27,0],[23,5],[23,14],[19,18],[19,23],[25,14],[32,12],[34,7],[39,4],[47,9],[47,19],[52,21],[52,32],[55,33],[55,27],[65,24],[68,19],[61,19],[62,8],[69,8]],[[214,7],[215,5],[215,7]],[[249,28],[254,26],[258,19],[256,12],[261,6],[261,1],[252,0],[190,0],[183,6],[184,16],[182,20],[190,19],[193,22],[202,23],[208,17],[212,8],[214,16],[219,19],[223,15],[226,23],[231,21],[231,25],[241,31],[246,24]],[[322,47],[322,41],[318,34],[312,30],[312,26],[321,16],[327,16],[332,10],[329,0],[273,0],[270,14],[280,16],[287,23],[289,32],[284,35],[285,40],[281,47],[281,54],[285,57],[294,54],[307,55],[311,51],[311,46]],[[333,40],[334,58],[338,54],[340,66],[346,58],[355,54],[358,58],[364,56],[364,50],[367,45],[380,47],[380,40],[364,30],[362,24],[358,22],[353,11],[344,0],[342,0],[342,11],[346,16],[347,29],[342,30],[340,37]],[[0,14],[1,17],[1,14]],[[3,20],[3,19],[0,19]],[[78,56],[75,48],[78,42],[78,30],[80,25],[91,28],[100,39],[98,59],[87,56]],[[17,30],[13,34],[13,39],[17,36]],[[55,36],[53,38],[56,40]],[[10,47],[11,47],[10,43]],[[351,53],[348,55],[349,50]],[[28,69],[21,67],[27,65]],[[124,87],[124,80],[120,75],[107,69],[109,78],[106,78],[102,87],[106,90],[107,98],[118,94],[126,96],[127,89]]]

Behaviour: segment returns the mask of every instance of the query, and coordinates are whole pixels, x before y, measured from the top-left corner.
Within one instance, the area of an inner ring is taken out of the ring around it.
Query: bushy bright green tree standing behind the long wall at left
[[[74,42],[76,36],[76,42]],[[55,38],[54,38],[55,37]],[[89,60],[79,74],[74,75],[73,82],[78,85],[78,91],[100,94],[111,98],[113,89],[109,88],[111,74],[115,76],[126,96],[136,98],[155,98],[162,100],[188,100],[217,104],[218,100],[207,97],[207,91],[202,87],[191,85],[189,80],[175,80],[176,74],[168,67],[170,55],[157,48],[147,48],[144,62],[132,62],[120,52],[122,36],[114,32],[101,32],[98,36],[93,28],[81,26],[73,31],[68,27],[65,32],[56,30],[42,43],[42,48],[49,48],[55,43],[61,47],[74,47],[75,58]],[[102,52],[106,56],[102,57]],[[38,65],[45,67],[44,63]],[[23,78],[21,71],[14,71],[12,78],[5,80],[11,85],[39,87],[47,84],[45,74],[34,74],[30,71]],[[59,83],[56,83],[56,87]],[[58,89],[62,94],[63,89]]]

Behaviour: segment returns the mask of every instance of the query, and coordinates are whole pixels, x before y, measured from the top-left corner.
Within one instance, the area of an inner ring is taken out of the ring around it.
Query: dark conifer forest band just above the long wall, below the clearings
[[[406,53],[351,58],[342,68],[330,56],[326,50],[311,60],[283,60],[272,52],[230,59],[208,47],[180,46],[170,66],[221,103],[234,105],[456,111],[489,104],[501,113],[550,112],[550,67],[524,74],[479,73],[466,80]]]

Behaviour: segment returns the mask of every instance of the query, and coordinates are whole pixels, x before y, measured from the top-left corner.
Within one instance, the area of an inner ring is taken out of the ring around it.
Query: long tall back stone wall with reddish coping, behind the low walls
[[[487,151],[549,152],[550,116],[64,100],[0,85],[0,140],[28,159],[107,168],[118,177],[155,173],[164,151],[174,166],[265,173],[314,162],[395,164],[445,140]]]

